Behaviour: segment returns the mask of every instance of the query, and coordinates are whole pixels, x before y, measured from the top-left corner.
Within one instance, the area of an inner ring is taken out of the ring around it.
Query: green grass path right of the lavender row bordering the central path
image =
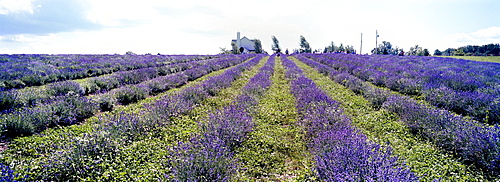
[[[370,140],[381,145],[389,145],[393,153],[408,164],[421,181],[484,181],[485,177],[464,165],[452,155],[438,149],[431,142],[411,134],[398,117],[385,110],[375,110],[362,96],[334,82],[315,69],[289,57],[299,66],[306,76],[313,80],[332,99],[340,102],[344,114],[348,115],[355,127]]]

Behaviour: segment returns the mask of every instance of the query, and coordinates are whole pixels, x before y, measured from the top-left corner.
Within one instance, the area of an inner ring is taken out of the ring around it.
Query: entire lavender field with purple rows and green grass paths
[[[0,58],[1,180],[500,181],[498,63]]]

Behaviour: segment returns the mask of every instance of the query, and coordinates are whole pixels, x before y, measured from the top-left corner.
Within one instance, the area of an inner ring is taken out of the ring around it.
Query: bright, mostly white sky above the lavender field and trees
[[[0,0],[0,54],[218,54],[236,33],[271,53],[377,42],[409,50],[500,43],[498,0]],[[361,43],[362,42],[362,43]]]

